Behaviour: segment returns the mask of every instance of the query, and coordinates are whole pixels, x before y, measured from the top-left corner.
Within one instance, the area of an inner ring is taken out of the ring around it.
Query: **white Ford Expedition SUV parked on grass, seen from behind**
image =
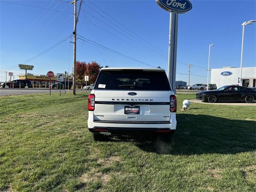
[[[176,130],[177,101],[164,69],[102,68],[88,97],[88,129],[106,135]]]

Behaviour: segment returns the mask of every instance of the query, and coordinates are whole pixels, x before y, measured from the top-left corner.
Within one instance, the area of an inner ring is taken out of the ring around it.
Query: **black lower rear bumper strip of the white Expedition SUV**
[[[124,127],[94,127],[89,128],[92,133],[114,135],[138,135],[138,134],[171,134],[176,130],[169,128],[124,128]]]

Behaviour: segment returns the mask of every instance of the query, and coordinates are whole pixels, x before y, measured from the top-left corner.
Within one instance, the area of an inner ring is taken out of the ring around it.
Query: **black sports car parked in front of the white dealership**
[[[242,101],[253,103],[256,100],[256,90],[237,85],[226,85],[217,90],[200,91],[196,94],[196,99],[210,103],[217,101]]]

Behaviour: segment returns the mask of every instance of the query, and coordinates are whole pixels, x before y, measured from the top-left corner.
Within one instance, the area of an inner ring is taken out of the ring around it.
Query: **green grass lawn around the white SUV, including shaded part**
[[[170,142],[94,142],[84,93],[2,96],[0,191],[256,191],[256,108],[194,97]]]

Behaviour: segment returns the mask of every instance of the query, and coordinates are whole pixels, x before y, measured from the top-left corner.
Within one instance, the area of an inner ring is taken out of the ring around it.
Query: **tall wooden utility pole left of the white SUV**
[[[74,62],[73,62],[73,95],[76,95],[76,1],[74,0],[72,3],[74,3]]]

